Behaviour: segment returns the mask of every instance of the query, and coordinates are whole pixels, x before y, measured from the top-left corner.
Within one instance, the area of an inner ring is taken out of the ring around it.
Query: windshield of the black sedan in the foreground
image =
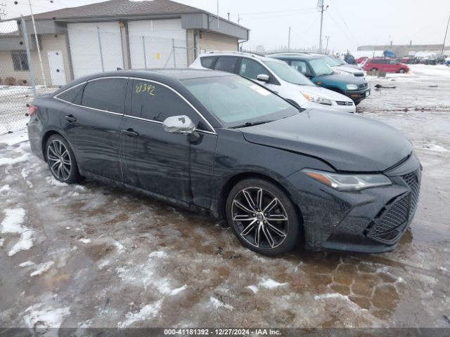
[[[227,128],[274,121],[299,112],[283,98],[242,77],[203,77],[182,82]]]

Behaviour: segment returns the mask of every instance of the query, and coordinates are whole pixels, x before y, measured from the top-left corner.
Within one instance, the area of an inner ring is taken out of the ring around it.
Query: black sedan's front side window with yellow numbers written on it
[[[166,86],[152,81],[133,80],[131,114],[160,122],[167,117],[186,114],[197,128],[209,131],[198,113],[183,98]]]

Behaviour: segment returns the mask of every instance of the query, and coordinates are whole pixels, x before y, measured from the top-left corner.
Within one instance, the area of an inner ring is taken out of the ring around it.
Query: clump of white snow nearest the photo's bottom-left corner
[[[70,307],[53,308],[39,303],[25,310],[23,320],[30,329],[59,328],[68,315]]]

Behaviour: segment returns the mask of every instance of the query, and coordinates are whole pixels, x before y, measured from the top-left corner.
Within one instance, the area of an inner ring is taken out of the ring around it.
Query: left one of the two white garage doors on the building
[[[124,67],[119,22],[70,23],[68,34],[75,78],[101,72],[101,55],[105,72]]]

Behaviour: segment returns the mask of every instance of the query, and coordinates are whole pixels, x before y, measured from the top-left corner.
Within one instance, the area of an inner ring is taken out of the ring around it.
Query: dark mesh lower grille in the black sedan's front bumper
[[[409,218],[409,193],[394,201],[371,230],[371,237],[390,241],[399,234],[398,227]]]

